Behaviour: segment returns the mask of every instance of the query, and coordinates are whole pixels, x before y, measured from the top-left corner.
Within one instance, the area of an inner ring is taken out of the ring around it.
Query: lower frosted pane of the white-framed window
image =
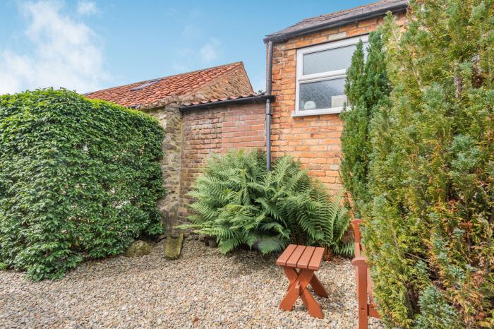
[[[344,78],[301,83],[299,90],[300,111],[343,107],[343,103],[347,102],[347,97],[344,95],[344,85]]]

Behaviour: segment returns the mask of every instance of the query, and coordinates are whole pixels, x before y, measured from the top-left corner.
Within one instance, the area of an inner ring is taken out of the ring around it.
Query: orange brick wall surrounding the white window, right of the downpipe
[[[404,14],[397,16],[400,25],[404,20]],[[272,95],[276,100],[272,104],[272,155],[274,158],[284,153],[294,155],[334,193],[342,189],[339,180],[342,121],[339,114],[292,116],[295,111],[296,49],[366,35],[378,28],[382,21],[383,18],[362,20],[294,37],[275,44],[273,48]]]

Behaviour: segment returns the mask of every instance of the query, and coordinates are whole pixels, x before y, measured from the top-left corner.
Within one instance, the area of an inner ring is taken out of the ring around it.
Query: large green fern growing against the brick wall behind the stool
[[[342,242],[349,217],[339,201],[330,201],[291,157],[277,160],[270,172],[265,163],[257,151],[212,157],[190,193],[196,215],[182,228],[217,237],[223,253],[241,245],[270,253],[294,242],[350,256],[352,242]]]

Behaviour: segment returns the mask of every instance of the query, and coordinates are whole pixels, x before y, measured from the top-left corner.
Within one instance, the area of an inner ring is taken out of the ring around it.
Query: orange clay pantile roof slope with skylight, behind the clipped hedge
[[[130,85],[88,92],[85,97],[107,100],[125,107],[136,107],[157,102],[172,95],[187,95],[212,82],[219,76],[233,71],[235,68],[243,68],[243,63],[238,61],[222,66],[204,68],[203,70],[181,73],[176,76],[165,76],[131,83]]]

